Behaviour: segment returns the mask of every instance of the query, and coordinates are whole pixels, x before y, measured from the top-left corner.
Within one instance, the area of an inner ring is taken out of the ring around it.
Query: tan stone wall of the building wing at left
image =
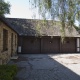
[[[8,50],[3,51],[3,29],[8,31]],[[11,46],[11,34],[13,33],[13,45]],[[15,40],[16,36],[16,40]],[[11,55],[15,55],[17,51],[17,33],[6,26],[3,22],[0,22],[0,64],[6,64]],[[16,45],[15,45],[16,43]],[[11,48],[13,47],[13,49]],[[13,50],[13,51],[12,51]]]

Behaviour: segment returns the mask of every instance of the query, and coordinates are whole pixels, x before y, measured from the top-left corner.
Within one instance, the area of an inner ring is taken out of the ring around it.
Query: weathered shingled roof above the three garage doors
[[[59,22],[37,19],[20,19],[20,18],[5,18],[5,21],[21,36],[61,36],[61,25]],[[43,24],[44,23],[44,24]],[[66,37],[80,37],[74,27],[69,31],[65,28]]]

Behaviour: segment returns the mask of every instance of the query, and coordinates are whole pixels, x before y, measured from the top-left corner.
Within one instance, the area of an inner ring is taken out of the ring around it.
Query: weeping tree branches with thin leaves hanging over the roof
[[[71,29],[76,20],[80,25],[80,0],[33,0],[32,6],[38,8],[39,14],[44,19],[49,16],[49,18],[61,22],[62,37],[65,37],[66,25]]]

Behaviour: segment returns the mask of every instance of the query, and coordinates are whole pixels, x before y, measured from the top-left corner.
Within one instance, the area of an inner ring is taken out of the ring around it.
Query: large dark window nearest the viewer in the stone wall
[[[3,51],[8,50],[8,31],[3,29]]]

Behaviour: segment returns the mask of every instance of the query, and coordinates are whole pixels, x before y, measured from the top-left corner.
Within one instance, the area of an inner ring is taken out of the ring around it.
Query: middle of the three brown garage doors
[[[42,53],[58,53],[60,50],[60,39],[59,38],[42,38]]]

